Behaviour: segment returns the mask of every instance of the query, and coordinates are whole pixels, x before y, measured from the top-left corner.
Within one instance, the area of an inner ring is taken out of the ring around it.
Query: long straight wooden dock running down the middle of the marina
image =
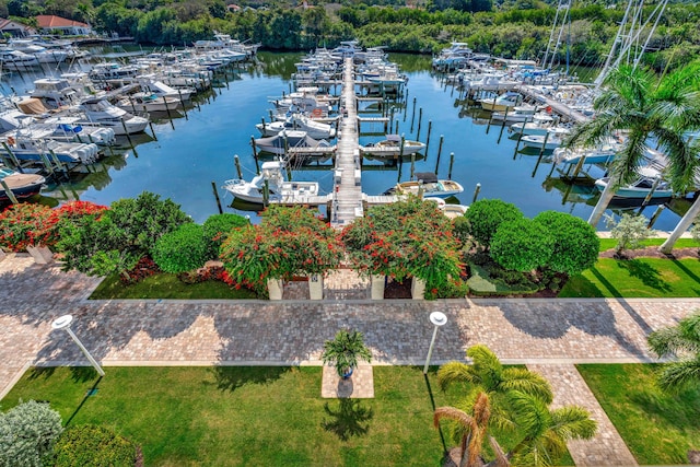
[[[340,106],[345,107],[346,115],[340,127],[341,137],[336,152],[335,184],[330,201],[330,224],[336,229],[342,229],[364,215],[352,58],[346,58],[343,65]]]

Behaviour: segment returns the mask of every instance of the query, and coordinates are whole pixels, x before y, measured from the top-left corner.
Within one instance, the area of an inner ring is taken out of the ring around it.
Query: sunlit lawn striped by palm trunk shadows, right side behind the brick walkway
[[[572,277],[561,297],[682,297],[700,295],[700,261],[600,258],[596,265]]]

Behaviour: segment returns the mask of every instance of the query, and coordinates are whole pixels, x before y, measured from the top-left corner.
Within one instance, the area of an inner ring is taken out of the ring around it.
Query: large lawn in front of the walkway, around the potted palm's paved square
[[[460,400],[459,387],[439,389],[434,370],[435,405]],[[439,466],[442,458],[420,367],[375,366],[375,398],[343,400],[320,398],[320,367],[106,372],[97,382],[92,369],[30,370],[2,410],[47,400],[67,423],[105,425],[141,444],[149,466]]]

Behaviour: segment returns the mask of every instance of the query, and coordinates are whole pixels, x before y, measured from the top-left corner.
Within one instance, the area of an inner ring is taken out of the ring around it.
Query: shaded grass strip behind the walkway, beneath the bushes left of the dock
[[[176,275],[158,273],[131,285],[124,285],[119,276],[105,278],[97,289],[90,295],[93,300],[114,299],[176,299],[176,300],[206,300],[226,299],[244,300],[257,299],[249,290],[235,290],[220,281],[206,281],[187,284]]]

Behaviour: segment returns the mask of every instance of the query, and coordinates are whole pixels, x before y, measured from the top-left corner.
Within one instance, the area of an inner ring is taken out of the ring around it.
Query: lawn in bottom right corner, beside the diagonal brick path
[[[687,464],[688,450],[700,450],[700,389],[663,393],[658,365],[578,369],[640,464]]]

